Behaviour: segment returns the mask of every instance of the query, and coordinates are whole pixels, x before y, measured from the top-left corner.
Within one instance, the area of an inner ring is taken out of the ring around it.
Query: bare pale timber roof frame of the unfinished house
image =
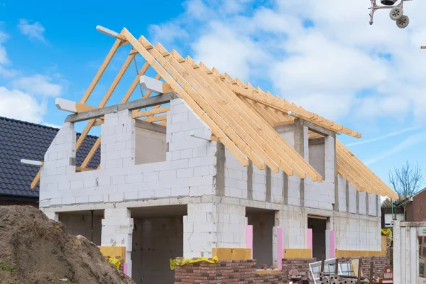
[[[212,130],[214,135],[212,140],[222,142],[241,165],[248,166],[249,160],[251,160],[261,170],[270,168],[274,173],[283,170],[287,175],[295,173],[299,178],[308,177],[313,181],[322,182],[322,176],[275,131],[274,127],[292,124],[295,119],[302,119],[308,121],[312,126],[320,126],[322,129],[333,133],[345,133],[355,138],[361,137],[361,133],[347,129],[285,99],[280,99],[278,96],[273,96],[268,91],[264,92],[260,87],[253,87],[249,83],[245,84],[239,78],[234,79],[227,73],[222,75],[214,67],[209,69],[203,62],[197,64],[189,56],[182,58],[175,50],[169,53],[160,43],[155,46],[151,45],[143,35],[136,39],[126,28],[123,28],[120,33],[101,26],[97,26],[97,30],[116,38],[116,40],[94,79],[84,92],[80,103],[75,103],[77,110],[84,109],[87,111],[89,109],[92,112],[99,110],[99,113],[103,113],[100,109],[106,106],[129,65],[139,54],[145,60],[145,63],[124,94],[120,104],[129,104],[127,102],[140,83],[141,76],[145,75],[148,68],[151,67],[157,73],[154,79],[164,80],[163,88],[178,94]],[[116,51],[124,45],[131,45],[131,51],[109,89],[107,89],[102,101],[97,108],[87,106],[87,99],[89,99],[94,87],[107,69],[109,62],[111,62]],[[151,94],[151,90],[147,90],[143,93],[142,99],[154,97]],[[134,119],[165,126],[165,112],[168,110],[170,110],[170,107],[161,107],[161,104],[157,104],[150,110],[133,109],[132,116]],[[84,117],[83,113],[79,111],[76,111],[76,114],[72,116],[77,117],[79,115]],[[76,143],[76,151],[82,145],[90,129],[103,123],[103,117],[87,117],[89,121]],[[87,167],[94,152],[99,148],[100,139],[101,136],[84,159],[82,168]],[[395,192],[337,139],[336,143],[337,172],[339,174],[343,175],[359,191],[373,192],[376,195],[387,195],[389,197],[395,196]],[[40,172],[35,176],[32,187],[38,183],[39,178]]]

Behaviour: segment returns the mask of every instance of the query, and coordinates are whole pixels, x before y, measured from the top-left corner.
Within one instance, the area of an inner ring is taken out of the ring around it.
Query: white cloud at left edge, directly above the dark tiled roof
[[[46,112],[46,104],[25,92],[0,87],[0,116],[40,124]]]

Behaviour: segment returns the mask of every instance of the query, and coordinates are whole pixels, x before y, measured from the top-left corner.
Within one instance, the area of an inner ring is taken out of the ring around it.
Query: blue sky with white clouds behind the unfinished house
[[[114,43],[95,27],[126,27],[361,132],[339,139],[385,182],[406,160],[426,169],[425,1],[405,4],[405,29],[387,11],[369,26],[368,0],[44,3],[0,0],[0,116],[62,124],[55,97],[80,101]],[[128,52],[119,50],[88,104]],[[109,104],[135,75],[131,65]]]

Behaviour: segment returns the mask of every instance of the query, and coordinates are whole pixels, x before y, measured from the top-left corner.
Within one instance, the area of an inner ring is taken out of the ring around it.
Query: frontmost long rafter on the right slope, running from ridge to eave
[[[129,31],[127,31],[126,28],[124,28],[124,36],[129,41],[129,43],[131,43],[133,48],[138,50],[139,54],[141,54],[142,57],[145,58],[145,60],[149,62],[149,64],[154,68],[154,70],[158,72],[161,77],[163,77],[165,82],[168,82],[168,84],[170,84],[170,87],[175,92],[177,92],[182,99],[185,100],[185,102],[190,106],[192,111],[194,111],[195,114],[197,114],[197,116],[199,116],[200,119],[202,119],[204,123],[207,124],[210,129],[212,129],[214,135],[219,138],[219,141],[224,143],[224,146],[228,148],[228,150],[236,157],[236,159],[239,160],[242,165],[248,166],[249,160],[244,156],[243,153],[241,153],[239,148],[236,147],[236,145],[226,136],[226,134],[221,129],[219,129],[219,126],[217,126],[217,124],[215,124],[214,121],[212,121],[212,119],[210,119],[209,116],[204,113],[201,107],[197,105],[197,103],[187,94],[187,92],[185,92],[185,89],[182,89],[182,87],[180,87],[180,85],[175,82],[173,77],[171,77],[168,72],[163,69],[163,67],[155,60],[155,58],[153,58],[151,53],[148,53],[148,50],[146,50],[146,48],[144,48],[143,45],[141,45],[141,43],[139,43],[138,40],[136,40],[136,38],[134,38],[133,35],[131,35]],[[148,42],[148,40],[146,40],[146,42]],[[164,58],[160,62],[162,64],[167,64],[167,61],[164,60]]]

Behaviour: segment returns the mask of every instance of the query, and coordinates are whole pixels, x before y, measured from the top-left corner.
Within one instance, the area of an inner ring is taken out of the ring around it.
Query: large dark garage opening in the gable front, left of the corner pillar
[[[184,215],[186,204],[131,208],[131,275],[136,283],[174,283],[170,258],[183,256]]]

